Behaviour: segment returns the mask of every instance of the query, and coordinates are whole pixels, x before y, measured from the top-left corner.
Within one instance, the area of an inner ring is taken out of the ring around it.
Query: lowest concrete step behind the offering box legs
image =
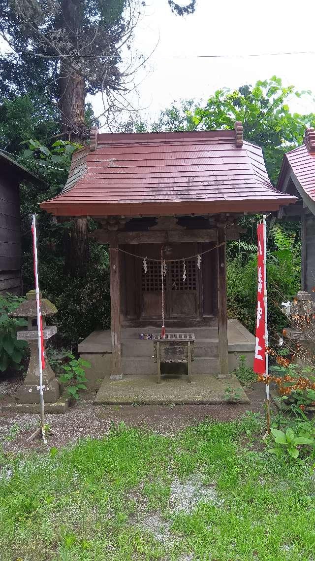
[[[183,367],[185,372],[186,365],[176,364],[177,371]],[[129,374],[156,374],[157,365],[152,357],[123,357],[123,372]],[[217,374],[218,359],[209,357],[195,358],[192,362],[192,374]]]

